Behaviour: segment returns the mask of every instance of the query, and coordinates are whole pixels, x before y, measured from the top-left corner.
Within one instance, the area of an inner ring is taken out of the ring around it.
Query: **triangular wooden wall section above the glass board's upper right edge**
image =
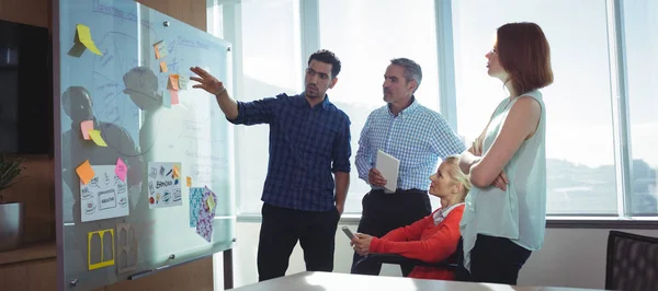
[[[151,9],[206,31],[206,0],[136,0]]]

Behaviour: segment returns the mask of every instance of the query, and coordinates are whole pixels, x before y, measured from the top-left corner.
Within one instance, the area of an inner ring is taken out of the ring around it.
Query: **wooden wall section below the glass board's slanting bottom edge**
[[[166,269],[134,281],[122,281],[105,287],[104,291],[213,291],[213,257],[208,257],[172,269]]]

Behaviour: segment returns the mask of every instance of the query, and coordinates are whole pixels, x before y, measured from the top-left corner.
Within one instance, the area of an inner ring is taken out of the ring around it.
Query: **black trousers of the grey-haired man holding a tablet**
[[[363,212],[358,232],[382,237],[392,230],[409,225],[432,211],[427,191],[410,189],[386,194],[384,190],[371,190],[363,197]],[[407,277],[413,266],[400,265],[402,276]],[[352,273],[379,275],[382,264],[373,263],[354,253]]]

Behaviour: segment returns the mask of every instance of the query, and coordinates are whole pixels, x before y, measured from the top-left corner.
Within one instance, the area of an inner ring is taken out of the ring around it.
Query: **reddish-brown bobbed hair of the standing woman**
[[[551,47],[542,27],[531,22],[508,23],[496,33],[496,54],[510,74],[515,94],[523,94],[553,83]]]

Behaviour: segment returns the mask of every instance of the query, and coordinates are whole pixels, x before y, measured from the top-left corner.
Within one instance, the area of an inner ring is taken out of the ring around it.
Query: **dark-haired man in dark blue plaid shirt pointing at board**
[[[329,102],[340,60],[328,50],[308,59],[306,90],[236,102],[203,69],[191,70],[232,124],[270,125],[270,161],[258,246],[259,281],[282,277],[299,241],[306,269],[332,271],[334,236],[350,185],[350,118]],[[336,178],[336,179],[334,179]],[[336,191],[334,191],[336,188]]]

